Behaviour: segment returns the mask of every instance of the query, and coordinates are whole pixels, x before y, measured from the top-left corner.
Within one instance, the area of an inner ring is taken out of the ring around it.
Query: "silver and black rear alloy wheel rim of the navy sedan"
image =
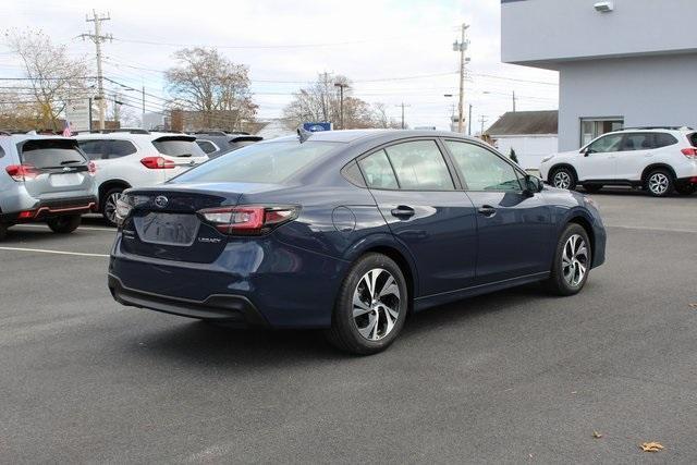
[[[353,322],[362,336],[379,341],[400,318],[400,287],[394,277],[374,268],[360,278],[353,293]]]

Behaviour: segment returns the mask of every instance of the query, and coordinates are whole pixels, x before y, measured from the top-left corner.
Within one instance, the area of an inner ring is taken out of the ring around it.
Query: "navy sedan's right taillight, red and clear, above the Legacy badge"
[[[294,220],[297,211],[297,207],[242,205],[206,208],[198,213],[221,233],[254,235]]]

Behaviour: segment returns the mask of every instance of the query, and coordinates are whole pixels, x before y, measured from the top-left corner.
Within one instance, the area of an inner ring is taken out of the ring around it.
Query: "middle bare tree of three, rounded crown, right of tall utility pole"
[[[217,49],[186,48],[174,53],[178,66],[166,78],[176,107],[199,115],[206,127],[241,129],[254,121],[248,69],[221,56]]]

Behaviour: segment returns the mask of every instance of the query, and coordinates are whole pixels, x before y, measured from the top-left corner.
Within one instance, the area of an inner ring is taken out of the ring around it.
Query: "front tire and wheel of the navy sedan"
[[[588,233],[580,224],[567,224],[554,250],[552,271],[545,282],[547,290],[555,295],[577,294],[588,280],[591,264]]]

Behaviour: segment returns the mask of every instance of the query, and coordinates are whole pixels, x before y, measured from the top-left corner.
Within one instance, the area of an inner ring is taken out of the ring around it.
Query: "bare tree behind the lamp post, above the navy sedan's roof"
[[[297,127],[304,122],[341,121],[341,95],[335,84],[344,87],[344,126],[345,129],[392,127],[391,121],[371,108],[366,101],[352,96],[351,81],[346,76],[331,76],[322,73],[317,81],[294,94],[293,100],[283,109],[289,126]]]

